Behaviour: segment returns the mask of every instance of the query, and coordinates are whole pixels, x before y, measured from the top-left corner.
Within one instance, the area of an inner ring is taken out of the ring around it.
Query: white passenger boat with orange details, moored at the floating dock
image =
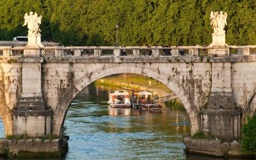
[[[129,93],[122,90],[110,90],[108,104],[111,107],[130,107]]]

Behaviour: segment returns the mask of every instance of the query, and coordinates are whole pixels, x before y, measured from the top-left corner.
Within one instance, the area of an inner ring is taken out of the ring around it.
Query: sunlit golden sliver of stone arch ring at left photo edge
[[[2,96],[0,96],[0,117],[2,118],[2,122],[4,124],[5,135],[13,135],[12,114]]]

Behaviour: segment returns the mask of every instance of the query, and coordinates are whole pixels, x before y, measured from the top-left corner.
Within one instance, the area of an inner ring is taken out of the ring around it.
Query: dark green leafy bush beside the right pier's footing
[[[242,146],[244,152],[256,152],[256,116],[247,118],[247,124],[242,126]]]

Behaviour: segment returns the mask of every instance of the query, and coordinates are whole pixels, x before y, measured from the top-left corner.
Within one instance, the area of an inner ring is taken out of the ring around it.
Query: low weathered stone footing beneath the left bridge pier
[[[26,140],[0,140],[0,155],[12,156],[32,156],[31,154],[47,154],[60,156],[62,145],[60,139],[42,140],[42,139],[26,139]],[[65,142],[66,143],[66,142]],[[44,155],[46,154],[46,155]]]

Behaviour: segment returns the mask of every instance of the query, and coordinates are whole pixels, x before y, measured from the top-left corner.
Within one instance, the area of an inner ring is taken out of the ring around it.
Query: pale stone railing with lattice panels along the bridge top
[[[34,54],[34,53],[36,54]],[[224,46],[224,47],[0,47],[0,56],[41,56],[41,57],[87,57],[87,56],[239,56],[256,55],[256,46]]]

